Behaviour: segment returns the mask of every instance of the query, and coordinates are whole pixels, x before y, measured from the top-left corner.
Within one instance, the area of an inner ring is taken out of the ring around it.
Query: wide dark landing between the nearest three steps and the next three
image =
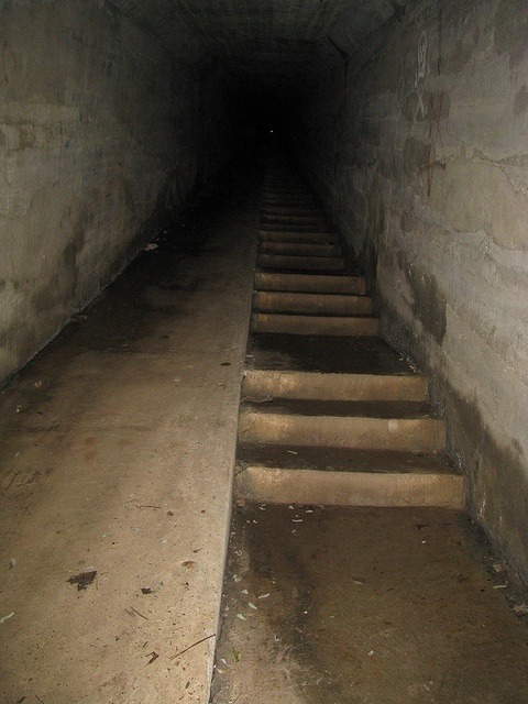
[[[248,366],[344,374],[416,374],[416,370],[378,337],[254,332],[248,346]]]

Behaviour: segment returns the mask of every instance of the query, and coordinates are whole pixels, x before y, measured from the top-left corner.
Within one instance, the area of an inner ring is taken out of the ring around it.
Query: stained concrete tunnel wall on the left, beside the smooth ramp
[[[96,0],[0,0],[0,385],[227,157],[222,86]]]

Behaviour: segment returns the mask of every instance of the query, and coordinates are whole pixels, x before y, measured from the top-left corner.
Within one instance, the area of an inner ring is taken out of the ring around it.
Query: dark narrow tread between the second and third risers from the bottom
[[[427,402],[413,400],[311,400],[304,398],[246,398],[242,410],[296,416],[339,416],[384,419],[439,418]]]

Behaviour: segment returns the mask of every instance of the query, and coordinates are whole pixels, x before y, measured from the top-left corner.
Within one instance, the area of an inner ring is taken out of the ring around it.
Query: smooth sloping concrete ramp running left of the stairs
[[[255,256],[243,178],[1,392],[2,703],[208,700]]]

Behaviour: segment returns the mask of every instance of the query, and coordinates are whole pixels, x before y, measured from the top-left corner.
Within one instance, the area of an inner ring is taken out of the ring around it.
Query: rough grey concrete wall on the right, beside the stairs
[[[528,4],[408,3],[318,72],[301,163],[384,334],[432,374],[471,509],[527,576]]]

